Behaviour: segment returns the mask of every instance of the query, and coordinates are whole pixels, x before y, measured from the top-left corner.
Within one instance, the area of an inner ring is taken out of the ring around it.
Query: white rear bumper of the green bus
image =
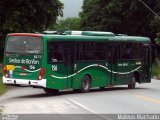
[[[42,80],[27,80],[27,79],[13,79],[3,76],[3,83],[7,85],[25,85],[34,87],[46,87],[46,79]]]

